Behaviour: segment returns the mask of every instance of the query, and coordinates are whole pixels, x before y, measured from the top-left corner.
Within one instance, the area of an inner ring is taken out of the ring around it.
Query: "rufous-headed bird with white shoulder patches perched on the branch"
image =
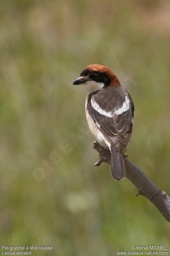
[[[134,104],[129,92],[106,66],[91,64],[74,81],[87,88],[85,114],[90,131],[101,146],[110,150],[110,173],[125,178],[123,155],[131,137]]]

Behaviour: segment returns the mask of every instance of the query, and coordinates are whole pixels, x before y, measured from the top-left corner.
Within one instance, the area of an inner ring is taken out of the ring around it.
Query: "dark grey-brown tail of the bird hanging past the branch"
[[[125,164],[120,151],[111,146],[110,173],[114,180],[122,180],[125,178]]]

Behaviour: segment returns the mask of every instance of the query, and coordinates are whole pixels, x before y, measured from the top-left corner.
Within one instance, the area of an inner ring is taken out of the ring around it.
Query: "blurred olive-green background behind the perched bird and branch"
[[[128,157],[170,194],[169,1],[1,1],[1,244],[32,255],[108,256],[165,244],[170,225],[127,179],[112,180],[86,125],[89,64],[135,104]]]

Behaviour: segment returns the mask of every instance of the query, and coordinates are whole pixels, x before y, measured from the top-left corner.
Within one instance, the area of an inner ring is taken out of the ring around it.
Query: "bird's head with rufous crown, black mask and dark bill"
[[[120,82],[106,66],[91,64],[81,72],[80,77],[73,84],[84,84],[90,94],[107,86],[118,86]]]

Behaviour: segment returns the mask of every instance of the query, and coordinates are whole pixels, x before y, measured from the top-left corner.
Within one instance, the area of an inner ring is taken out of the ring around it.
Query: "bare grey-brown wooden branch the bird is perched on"
[[[100,160],[96,164],[100,165],[102,162],[110,164],[110,151],[104,149],[98,142],[93,142],[93,148],[99,152]],[[164,218],[170,222],[170,198],[165,191],[160,190],[145,173],[131,163],[127,156],[123,155],[123,160],[126,168],[126,178],[130,180],[137,187],[137,194],[143,195],[148,198],[164,216]]]

